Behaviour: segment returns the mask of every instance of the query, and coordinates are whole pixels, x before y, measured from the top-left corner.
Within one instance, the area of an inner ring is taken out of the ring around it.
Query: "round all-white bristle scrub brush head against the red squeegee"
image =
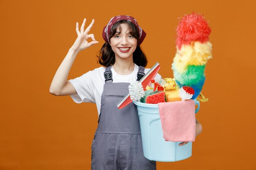
[[[130,98],[132,100],[137,101],[137,100],[141,99],[141,97],[145,96],[145,92],[144,92],[142,84],[137,81],[130,83],[128,88],[129,88]]]

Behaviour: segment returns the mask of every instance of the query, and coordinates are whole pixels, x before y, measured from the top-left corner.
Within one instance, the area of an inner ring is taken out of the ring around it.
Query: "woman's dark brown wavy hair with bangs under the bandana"
[[[130,28],[130,34],[135,38],[137,38],[138,40],[139,32],[136,26],[129,20],[119,20],[115,24],[113,24],[110,30],[110,38],[112,38],[117,32],[117,27],[121,31],[120,24],[123,24],[123,23],[128,24]],[[137,46],[132,56],[133,56],[133,62],[137,64],[137,66],[146,67],[148,61],[147,61],[146,55],[141,50],[140,46]],[[110,44],[108,44],[107,42],[103,44],[103,46],[101,47],[101,50],[99,51],[99,55],[97,55],[97,57],[99,58],[99,64],[103,66],[112,66],[113,64],[115,64],[115,53],[114,51],[112,51]]]

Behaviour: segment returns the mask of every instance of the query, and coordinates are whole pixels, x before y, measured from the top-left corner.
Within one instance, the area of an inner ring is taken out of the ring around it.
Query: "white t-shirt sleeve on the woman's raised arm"
[[[74,88],[76,89],[75,95],[70,95],[74,102],[82,103],[82,102],[91,102],[95,103],[95,97],[93,95],[93,84],[90,73],[87,72],[80,77],[76,77],[75,79],[68,80]]]

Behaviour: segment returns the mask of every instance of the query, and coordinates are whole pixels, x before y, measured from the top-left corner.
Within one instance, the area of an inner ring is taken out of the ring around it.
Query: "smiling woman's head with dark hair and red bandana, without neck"
[[[107,26],[103,29],[105,44],[98,55],[99,64],[103,66],[115,65],[115,61],[118,60],[116,55],[119,58],[123,56],[124,59],[128,58],[127,55],[129,55],[129,57],[132,56],[130,60],[132,59],[133,63],[145,67],[148,61],[139,45],[146,37],[146,33],[130,20],[118,20]],[[105,31],[109,31],[109,33]]]

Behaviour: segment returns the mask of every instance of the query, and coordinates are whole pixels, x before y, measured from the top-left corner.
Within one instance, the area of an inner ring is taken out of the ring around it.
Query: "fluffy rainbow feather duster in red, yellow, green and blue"
[[[173,59],[173,76],[177,85],[191,86],[198,97],[204,85],[204,69],[212,58],[209,35],[211,29],[204,16],[196,13],[185,15],[177,26],[176,55]]]

